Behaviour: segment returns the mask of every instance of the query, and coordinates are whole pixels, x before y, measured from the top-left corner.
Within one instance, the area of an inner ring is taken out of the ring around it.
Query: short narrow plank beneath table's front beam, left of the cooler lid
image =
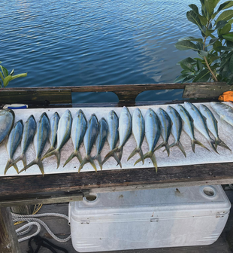
[[[89,190],[86,190],[85,197],[89,195]],[[14,209],[20,209],[21,212],[14,212],[18,214],[32,214],[29,212],[22,213],[22,208],[24,208],[28,204],[51,204],[51,203],[69,203],[75,201],[82,201],[84,194],[82,192],[77,193],[56,193],[48,195],[34,194],[27,197],[23,195],[23,197],[14,197],[14,199],[9,197],[0,197],[0,207],[11,207],[14,206]],[[9,199],[8,199],[9,198]]]

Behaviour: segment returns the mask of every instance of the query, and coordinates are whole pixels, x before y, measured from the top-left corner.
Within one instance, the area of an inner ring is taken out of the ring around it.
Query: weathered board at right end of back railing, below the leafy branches
[[[233,90],[233,86],[225,83],[187,84],[183,98],[218,99],[228,90]]]

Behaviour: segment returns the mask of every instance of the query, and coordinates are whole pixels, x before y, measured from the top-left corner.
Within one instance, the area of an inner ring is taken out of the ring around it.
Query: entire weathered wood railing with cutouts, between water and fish
[[[135,102],[137,96],[148,90],[177,90],[183,89],[183,98],[216,99],[233,86],[225,83],[192,83],[192,84],[120,84],[95,85],[77,87],[20,87],[4,88],[0,90],[0,102],[8,103],[34,103],[71,104],[71,93],[86,92],[112,92],[118,96],[119,102]]]

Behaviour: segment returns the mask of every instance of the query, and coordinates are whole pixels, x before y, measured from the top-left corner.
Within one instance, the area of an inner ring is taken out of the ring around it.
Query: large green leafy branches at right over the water
[[[198,26],[201,38],[180,38],[175,44],[178,50],[196,51],[198,57],[177,63],[183,71],[174,82],[223,81],[233,84],[233,1],[221,3],[217,10],[220,0],[200,2],[201,10],[196,5],[189,5],[192,10],[186,17]]]

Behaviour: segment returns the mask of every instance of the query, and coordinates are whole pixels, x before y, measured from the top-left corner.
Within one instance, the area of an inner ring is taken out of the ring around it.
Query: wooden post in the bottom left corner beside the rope
[[[20,255],[20,244],[17,239],[11,211],[0,208],[0,255]]]

